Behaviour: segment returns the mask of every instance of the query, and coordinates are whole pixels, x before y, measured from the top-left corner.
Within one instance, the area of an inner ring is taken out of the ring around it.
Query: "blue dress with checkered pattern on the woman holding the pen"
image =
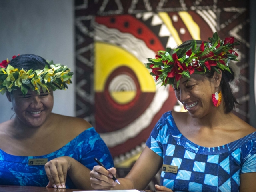
[[[236,192],[240,174],[256,172],[256,132],[218,147],[202,147],[185,138],[171,112],[152,130],[146,145],[177,173],[161,172],[160,184],[175,192]]]

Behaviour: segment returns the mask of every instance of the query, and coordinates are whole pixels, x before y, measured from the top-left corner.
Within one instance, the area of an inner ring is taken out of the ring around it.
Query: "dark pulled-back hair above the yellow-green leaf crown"
[[[44,69],[46,65],[50,67],[50,65],[44,58],[33,54],[19,55],[16,58],[12,59],[8,65],[11,65],[14,68],[18,69],[23,68],[24,70]]]

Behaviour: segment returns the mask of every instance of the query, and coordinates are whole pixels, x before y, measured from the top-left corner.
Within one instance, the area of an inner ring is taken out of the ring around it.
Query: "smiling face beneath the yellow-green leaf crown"
[[[8,100],[12,102],[16,118],[29,127],[39,127],[44,124],[50,116],[53,108],[53,93],[28,91],[26,96],[21,90],[7,94]]]

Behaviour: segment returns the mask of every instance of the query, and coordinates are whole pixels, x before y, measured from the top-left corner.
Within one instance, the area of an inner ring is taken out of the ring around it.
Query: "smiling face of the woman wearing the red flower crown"
[[[214,108],[212,94],[216,92],[216,80],[201,74],[192,74],[191,78],[180,79],[177,88],[174,82],[174,90],[177,99],[186,106],[190,116],[202,118]]]

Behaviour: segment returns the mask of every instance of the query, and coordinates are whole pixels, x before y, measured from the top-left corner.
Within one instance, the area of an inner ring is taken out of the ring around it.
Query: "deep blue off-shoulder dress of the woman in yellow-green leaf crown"
[[[29,159],[48,158],[48,161],[70,156],[92,170],[94,157],[98,158],[107,168],[114,166],[112,156],[99,134],[94,128],[89,128],[76,136],[59,150],[43,156],[14,156],[0,149],[0,185],[23,185],[45,187],[49,180],[44,165],[28,165]],[[66,188],[76,188],[70,178],[67,178]]]

